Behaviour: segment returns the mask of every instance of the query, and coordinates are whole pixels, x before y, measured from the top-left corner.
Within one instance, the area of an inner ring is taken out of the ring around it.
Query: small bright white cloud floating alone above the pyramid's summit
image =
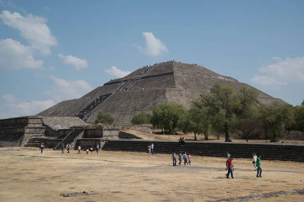
[[[155,38],[152,32],[142,32],[142,35],[145,37],[146,47],[143,48],[140,45],[137,46],[141,53],[147,54],[148,56],[158,56],[163,52],[169,52],[166,44],[159,38]]]

